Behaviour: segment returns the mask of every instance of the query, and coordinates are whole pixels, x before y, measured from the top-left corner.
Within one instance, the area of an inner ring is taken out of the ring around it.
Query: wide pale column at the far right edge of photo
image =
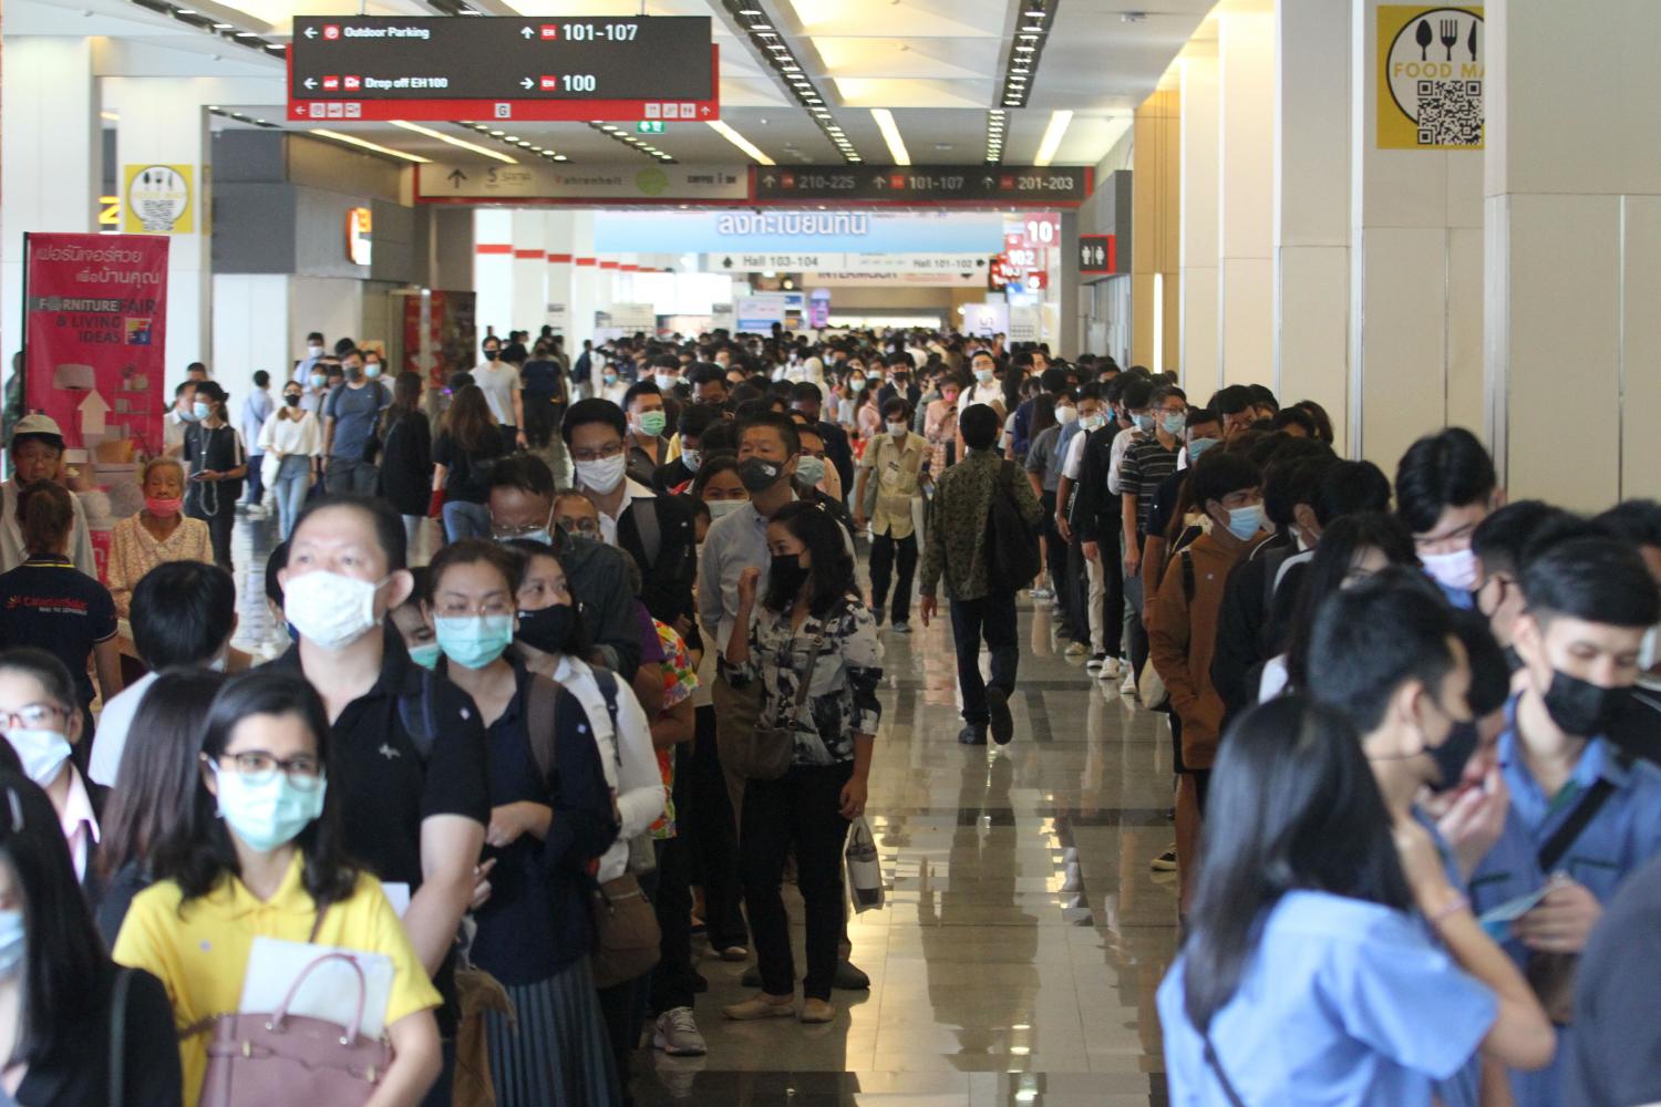
[[[1495,460],[1512,498],[1661,495],[1661,5],[1490,0],[1487,17]]]

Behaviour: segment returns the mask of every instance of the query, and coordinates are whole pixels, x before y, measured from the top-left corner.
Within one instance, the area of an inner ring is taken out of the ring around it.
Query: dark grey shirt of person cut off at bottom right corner
[[[1661,858],[1626,878],[1591,931],[1565,1044],[1568,1107],[1661,1102]]]

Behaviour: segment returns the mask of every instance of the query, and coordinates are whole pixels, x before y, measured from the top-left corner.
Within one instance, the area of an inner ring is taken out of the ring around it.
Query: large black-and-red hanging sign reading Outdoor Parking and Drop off
[[[294,119],[716,119],[709,17],[296,17]]]

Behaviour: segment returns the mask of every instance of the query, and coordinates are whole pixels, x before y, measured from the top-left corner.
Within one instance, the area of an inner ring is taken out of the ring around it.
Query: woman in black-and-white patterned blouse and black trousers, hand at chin
[[[796,1014],[791,928],[779,896],[784,858],[794,846],[807,913],[801,1021],[829,1022],[842,933],[842,841],[849,823],[865,812],[870,750],[882,717],[882,644],[854,581],[847,533],[834,514],[812,501],[786,505],[767,523],[767,549],[766,588],[754,566],[739,576],[739,609],[724,661],[734,687],[761,684],[756,725],[791,730],[792,752],[782,777],[744,787],[739,875],[761,992],[723,1014]]]

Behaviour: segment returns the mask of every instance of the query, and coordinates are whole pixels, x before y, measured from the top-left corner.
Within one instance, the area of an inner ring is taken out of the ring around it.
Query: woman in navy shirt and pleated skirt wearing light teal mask
[[[586,875],[616,822],[583,705],[507,654],[523,576],[517,549],[477,538],[445,546],[427,569],[422,614],[440,671],[473,697],[490,749],[472,959],[502,981],[517,1012],[485,1014],[497,1102],[598,1107],[616,1104],[621,1085],[588,963]],[[553,732],[535,734],[538,725]]]

